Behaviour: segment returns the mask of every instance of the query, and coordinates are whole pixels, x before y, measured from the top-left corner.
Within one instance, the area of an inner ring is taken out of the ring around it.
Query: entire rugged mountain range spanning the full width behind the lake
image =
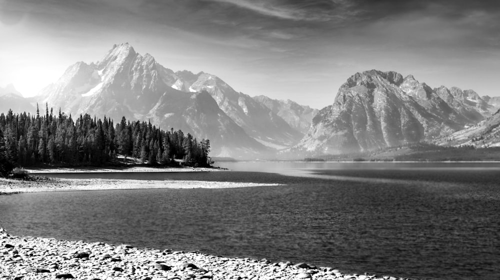
[[[212,74],[173,72],[126,43],[114,45],[96,63],[68,67],[36,97],[22,98],[13,86],[0,88],[3,112],[33,112],[36,103],[40,110],[48,103],[66,114],[105,115],[115,122],[122,116],[150,120],[165,130],[210,139],[211,156],[246,159],[360,152],[418,141],[465,143],[452,135],[477,138],[496,130],[457,131],[500,124],[498,114],[491,116],[500,97],[432,89],[411,75],[356,73],[332,105],[316,110],[291,100],[250,97]]]

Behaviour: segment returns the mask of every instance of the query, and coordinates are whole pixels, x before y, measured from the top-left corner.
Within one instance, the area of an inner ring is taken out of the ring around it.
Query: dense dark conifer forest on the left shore
[[[0,174],[8,174],[14,166],[92,165],[102,166],[125,162],[134,157],[148,165],[209,166],[210,141],[197,141],[181,130],[161,130],[150,122],[119,123],[88,114],[73,119],[53,114],[45,107],[40,115],[0,114]],[[123,159],[118,159],[118,155]]]

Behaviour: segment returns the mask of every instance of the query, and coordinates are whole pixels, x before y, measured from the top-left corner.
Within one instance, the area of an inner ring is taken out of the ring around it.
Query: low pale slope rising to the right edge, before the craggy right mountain
[[[467,126],[433,143],[441,146],[500,147],[500,110],[475,125]]]

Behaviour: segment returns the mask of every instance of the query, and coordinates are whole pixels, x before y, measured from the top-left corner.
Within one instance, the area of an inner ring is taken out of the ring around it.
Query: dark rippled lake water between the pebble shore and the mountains
[[[64,178],[281,183],[0,196],[14,235],[291,260],[422,279],[500,278],[499,163],[217,163]]]

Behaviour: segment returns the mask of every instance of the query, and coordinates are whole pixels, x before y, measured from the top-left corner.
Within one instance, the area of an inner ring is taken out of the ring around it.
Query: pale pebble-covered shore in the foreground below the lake
[[[344,274],[330,267],[265,259],[227,258],[102,242],[10,236],[0,228],[0,279],[350,279],[398,280]]]

